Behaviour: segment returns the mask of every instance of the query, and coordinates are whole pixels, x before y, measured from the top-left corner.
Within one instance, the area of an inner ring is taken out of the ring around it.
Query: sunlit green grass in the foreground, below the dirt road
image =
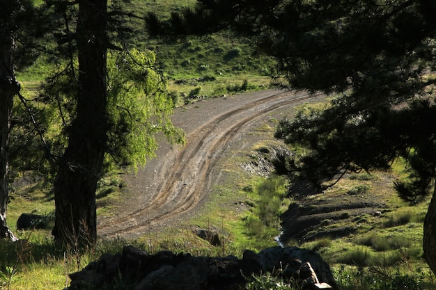
[[[82,253],[56,247],[50,229],[18,232],[22,239],[28,239],[32,244],[1,243],[0,271],[5,273],[6,266],[15,268],[11,289],[57,289],[68,284],[68,273],[80,270],[104,252],[119,252],[127,243],[150,253],[171,250],[210,257],[241,257],[244,249],[256,251],[276,245],[274,235],[279,233],[279,214],[290,202],[285,194],[286,179],[250,175],[238,166],[251,159],[258,148],[271,142],[272,129],[272,126],[264,125],[255,130],[252,134],[259,137],[258,144],[234,152],[233,158],[220,164],[225,182],[213,188],[208,202],[192,219],[162,232],[150,232],[135,241],[99,241],[94,249]],[[368,191],[380,192],[386,198],[389,209],[381,217],[361,215],[360,220],[353,223],[358,227],[364,219],[366,226],[357,234],[341,239],[323,238],[290,244],[319,252],[332,266],[339,289],[390,290],[405,289],[404,286],[407,289],[432,289],[436,284],[422,259],[421,248],[427,204],[400,202],[393,191],[384,189],[384,186],[389,186],[389,181],[380,183],[385,177],[383,172],[373,172],[371,176],[344,179],[332,190],[314,196],[313,200],[335,195],[355,196],[347,195],[347,192],[364,184],[365,188],[370,188]],[[123,198],[123,186],[120,185],[122,182],[117,177],[104,180],[98,192],[99,214],[111,214],[117,210],[116,203]],[[52,211],[53,200],[36,182],[16,188],[9,210],[8,218],[13,225],[18,213],[36,210],[38,214],[45,214]],[[325,225],[332,226],[331,222],[326,220]],[[192,232],[192,227],[196,226],[216,229],[223,243],[212,246],[199,239]],[[247,289],[264,289],[265,285],[270,285],[268,289],[283,289],[289,283],[277,279],[268,273],[249,277]],[[29,281],[33,281],[32,284]]]

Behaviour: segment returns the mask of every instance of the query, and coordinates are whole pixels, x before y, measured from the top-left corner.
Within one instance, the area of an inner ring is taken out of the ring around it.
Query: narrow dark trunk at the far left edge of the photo
[[[6,223],[8,209],[8,161],[13,98],[19,88],[13,71],[13,38],[8,27],[0,27],[0,237],[16,241]]]

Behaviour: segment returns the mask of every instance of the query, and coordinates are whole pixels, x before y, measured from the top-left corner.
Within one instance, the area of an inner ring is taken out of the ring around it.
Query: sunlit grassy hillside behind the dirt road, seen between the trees
[[[170,8],[180,11],[193,6],[194,0],[153,1],[134,0],[125,10],[139,17],[153,11],[168,17]],[[166,76],[169,90],[180,99],[179,104],[198,97],[219,97],[245,90],[259,90],[269,86],[272,58],[254,56],[254,43],[236,38],[229,32],[204,37],[186,37],[180,40],[150,39],[143,20],[131,18],[132,29],[125,42],[130,48],[150,49],[155,52],[158,70]],[[49,58],[40,58],[32,67],[17,72],[23,87],[31,92],[38,88],[54,65]]]

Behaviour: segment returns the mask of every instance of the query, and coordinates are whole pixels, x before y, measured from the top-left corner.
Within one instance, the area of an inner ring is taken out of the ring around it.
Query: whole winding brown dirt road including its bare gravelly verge
[[[219,179],[217,162],[235,140],[277,110],[313,97],[303,92],[264,90],[221,97],[178,108],[173,123],[185,130],[187,143],[162,142],[157,156],[137,175],[126,175],[128,197],[114,217],[98,218],[98,234],[132,239],[180,220],[205,201]]]

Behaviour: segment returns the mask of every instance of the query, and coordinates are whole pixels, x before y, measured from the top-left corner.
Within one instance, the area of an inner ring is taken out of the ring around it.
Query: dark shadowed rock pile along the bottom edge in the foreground
[[[295,280],[303,289],[336,285],[329,265],[315,252],[297,247],[274,247],[259,253],[245,250],[237,257],[194,257],[162,251],[155,255],[125,246],[116,255],[105,254],[82,271],[70,275],[69,290],[212,290],[241,289],[246,277],[270,272]],[[124,288],[123,288],[124,289]]]

